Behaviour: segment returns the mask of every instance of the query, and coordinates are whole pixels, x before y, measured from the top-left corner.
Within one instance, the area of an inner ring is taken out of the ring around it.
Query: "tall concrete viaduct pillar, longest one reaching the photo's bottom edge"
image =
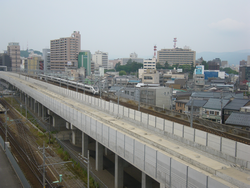
[[[115,154],[115,188],[123,188],[123,159]]]

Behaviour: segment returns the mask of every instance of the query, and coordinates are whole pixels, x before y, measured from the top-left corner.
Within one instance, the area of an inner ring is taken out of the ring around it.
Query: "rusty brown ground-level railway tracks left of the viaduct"
[[[20,120],[20,116],[12,109],[12,107],[3,99],[0,103],[7,107],[8,117],[12,120],[8,123],[8,142],[10,142],[12,153],[14,154],[17,162],[25,173],[26,178],[30,182],[32,187],[42,187],[42,171],[39,169],[41,159],[39,159],[36,144],[36,140],[28,127]],[[1,122],[5,122],[4,118],[1,118]],[[3,123],[0,126],[0,134],[5,138],[5,126]],[[46,176],[47,187],[53,187],[51,185],[51,179]]]

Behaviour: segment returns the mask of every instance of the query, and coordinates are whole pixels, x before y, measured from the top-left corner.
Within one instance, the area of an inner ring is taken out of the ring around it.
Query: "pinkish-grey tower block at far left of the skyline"
[[[7,54],[11,58],[11,67],[13,72],[20,71],[21,59],[20,59],[20,46],[18,42],[10,42],[7,47]]]

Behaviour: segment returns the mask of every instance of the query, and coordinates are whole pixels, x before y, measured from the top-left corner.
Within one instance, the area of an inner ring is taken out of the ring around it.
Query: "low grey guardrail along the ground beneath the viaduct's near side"
[[[58,138],[56,138],[57,142],[60,144],[60,146],[69,153],[70,157],[72,159],[74,159],[77,163],[80,164],[80,166],[82,168],[84,168],[85,170],[87,170],[87,165],[79,159],[78,156],[76,156],[69,147],[67,147],[61,140],[59,140]],[[92,171],[90,171],[90,175],[92,176],[92,178],[99,184],[100,188],[108,188]]]

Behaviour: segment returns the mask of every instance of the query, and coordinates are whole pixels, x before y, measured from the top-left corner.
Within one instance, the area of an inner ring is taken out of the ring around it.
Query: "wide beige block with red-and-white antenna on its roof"
[[[179,64],[179,65],[193,65],[195,66],[196,52],[191,49],[173,48],[173,49],[161,49],[157,52],[157,60],[162,65]]]

